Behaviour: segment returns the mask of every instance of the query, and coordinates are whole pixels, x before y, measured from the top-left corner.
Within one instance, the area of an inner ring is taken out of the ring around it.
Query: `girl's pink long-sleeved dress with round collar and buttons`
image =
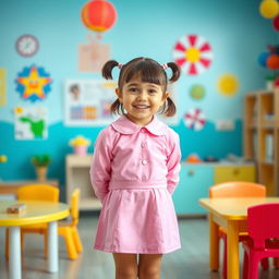
[[[141,128],[122,116],[100,132],[90,167],[102,203],[96,250],[165,254],[180,248],[171,198],[180,159],[178,134],[156,117]]]

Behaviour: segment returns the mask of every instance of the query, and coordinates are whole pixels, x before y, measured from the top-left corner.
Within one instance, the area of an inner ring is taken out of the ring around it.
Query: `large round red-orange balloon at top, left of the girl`
[[[106,0],[93,0],[83,7],[81,16],[87,28],[104,32],[116,23],[117,10]]]

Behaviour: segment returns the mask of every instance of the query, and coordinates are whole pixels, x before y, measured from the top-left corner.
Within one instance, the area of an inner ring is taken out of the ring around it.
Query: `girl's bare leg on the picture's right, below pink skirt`
[[[162,254],[141,254],[138,262],[140,279],[159,279]]]

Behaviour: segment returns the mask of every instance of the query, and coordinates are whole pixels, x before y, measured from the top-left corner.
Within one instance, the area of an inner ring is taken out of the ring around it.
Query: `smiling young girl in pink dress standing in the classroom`
[[[162,254],[180,248],[171,198],[179,182],[179,136],[155,116],[175,113],[166,69],[172,71],[170,82],[180,70],[173,62],[161,65],[148,58],[123,65],[110,60],[102,76],[112,78],[116,66],[118,99],[111,111],[122,116],[99,133],[90,167],[102,203],[94,247],[113,253],[117,279],[155,279]]]

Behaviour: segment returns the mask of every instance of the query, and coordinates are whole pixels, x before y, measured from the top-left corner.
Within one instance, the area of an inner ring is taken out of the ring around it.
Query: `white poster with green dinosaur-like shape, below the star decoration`
[[[15,140],[46,140],[48,137],[47,108],[14,108]]]

